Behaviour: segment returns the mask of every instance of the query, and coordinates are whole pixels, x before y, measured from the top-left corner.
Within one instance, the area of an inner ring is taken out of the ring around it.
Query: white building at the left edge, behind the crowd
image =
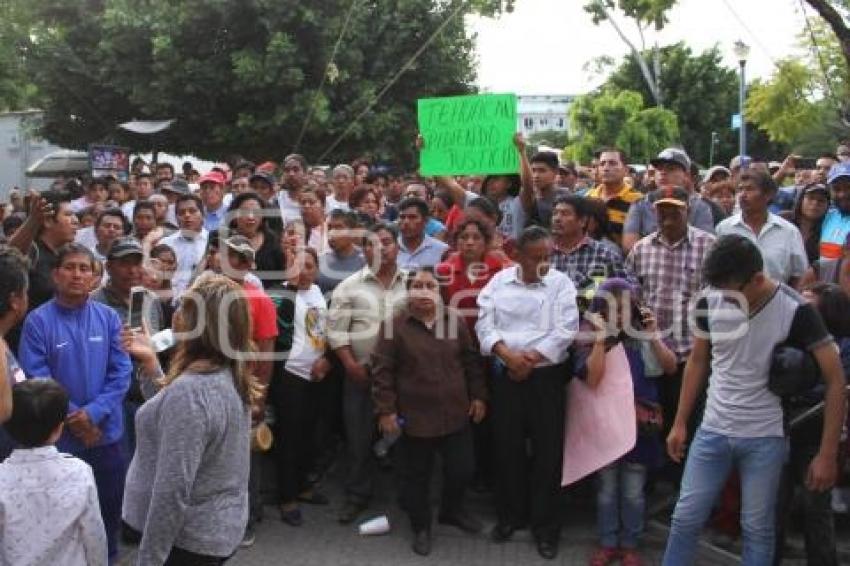
[[[0,113],[0,202],[7,202],[15,187],[46,189],[51,179],[30,179],[27,168],[61,149],[34,134],[41,120],[41,110]]]

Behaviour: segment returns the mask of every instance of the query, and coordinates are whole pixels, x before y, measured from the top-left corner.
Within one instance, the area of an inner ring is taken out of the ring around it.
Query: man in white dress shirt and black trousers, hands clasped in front
[[[540,555],[553,559],[560,533],[568,378],[564,362],[579,314],[572,281],[549,268],[549,232],[538,226],[525,229],[517,252],[517,265],[497,273],[478,296],[475,325],[481,353],[492,356],[494,368],[491,415],[499,522],[491,537],[503,542],[530,526]],[[532,460],[526,436],[534,447]]]

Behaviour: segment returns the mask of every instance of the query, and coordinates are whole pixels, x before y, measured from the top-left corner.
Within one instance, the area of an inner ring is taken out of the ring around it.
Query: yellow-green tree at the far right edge
[[[821,21],[812,22],[811,35],[801,34],[800,47],[800,56],[778,61],[769,80],[750,87],[747,114],[771,140],[798,153],[832,151],[850,133],[843,119],[850,71],[837,38]]]

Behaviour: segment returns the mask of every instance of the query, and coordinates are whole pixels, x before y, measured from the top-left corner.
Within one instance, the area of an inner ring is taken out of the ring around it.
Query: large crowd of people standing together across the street
[[[437,521],[480,532],[474,486],[494,543],[527,528],[553,559],[571,392],[626,383],[632,440],[591,470],[591,566],[642,563],[651,481],[679,490],[666,565],[693,563],[712,511],[744,564],[779,563],[795,490],[809,563],[837,564],[850,148],[703,174],[681,148],[635,168],[514,143],[510,175],[292,154],[13,193],[0,562],[112,564],[123,540],[145,566],[222,564],[254,542],[263,470],[284,524],[329,503],[351,524],[388,461],[428,555],[438,457]]]

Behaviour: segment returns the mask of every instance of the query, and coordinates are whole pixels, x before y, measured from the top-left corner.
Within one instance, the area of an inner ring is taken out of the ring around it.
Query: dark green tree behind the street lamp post
[[[708,163],[711,133],[719,143],[714,156],[728,161],[737,154],[736,134],[730,129],[732,114],[738,112],[738,76],[722,64],[720,51],[712,49],[695,55],[690,47],[676,43],[659,50],[661,68],[658,84],[664,107],[678,117],[682,147],[692,159]],[[613,91],[634,90],[641,94],[644,106],[653,104],[653,94],[635,58],[626,57],[608,77],[603,88]],[[659,148],[660,149],[660,148]]]

